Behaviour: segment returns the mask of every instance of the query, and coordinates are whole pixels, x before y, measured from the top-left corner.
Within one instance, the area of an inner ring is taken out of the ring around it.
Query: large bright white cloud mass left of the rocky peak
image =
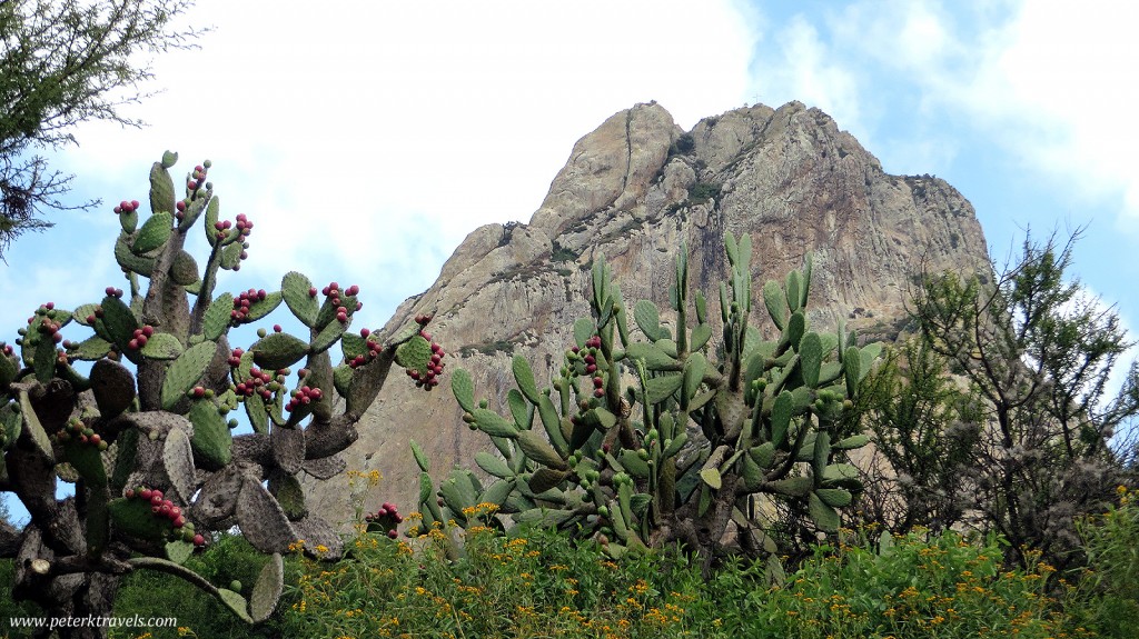
[[[150,126],[85,125],[60,167],[145,200],[163,150],[178,176],[208,156],[223,217],[255,223],[240,280],[359,282],[385,296],[372,325],[467,233],[528,221],[612,114],[657,100],[688,128],[740,106],[754,27],[730,0],[198,0],[194,19],[214,31],[156,58],[165,91],[130,111]]]

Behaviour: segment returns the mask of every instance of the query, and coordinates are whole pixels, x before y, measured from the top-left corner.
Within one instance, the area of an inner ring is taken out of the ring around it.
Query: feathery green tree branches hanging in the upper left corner
[[[150,80],[139,53],[182,48],[198,34],[174,28],[186,0],[10,0],[0,3],[0,257],[28,231],[51,226],[46,209],[72,180],[51,171],[43,149],[75,142],[82,122],[141,123],[120,113]]]

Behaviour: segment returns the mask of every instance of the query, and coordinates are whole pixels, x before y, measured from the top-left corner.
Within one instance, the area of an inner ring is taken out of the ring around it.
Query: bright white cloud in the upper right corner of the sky
[[[1024,2],[984,43],[962,100],[1031,164],[1089,197],[1115,198],[1139,223],[1139,5]]]

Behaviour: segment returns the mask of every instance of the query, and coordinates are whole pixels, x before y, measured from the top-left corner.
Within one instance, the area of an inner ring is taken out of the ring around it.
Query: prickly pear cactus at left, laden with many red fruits
[[[197,583],[241,619],[268,617],[281,591],[280,553],[316,536],[329,547],[325,558],[342,551],[305,507],[302,474],[344,470],[338,454],[393,364],[428,390],[443,372],[429,318],[393,335],[349,332],[359,287],[318,290],[288,273],[279,290],[215,293],[219,273],[248,257],[254,224],[221,217],[208,161],[177,197],[175,161],[167,152],[150,171],[149,216],[138,201],[115,207],[124,288],[73,310],[44,304],[21,329],[18,350],[0,343],[0,489],[32,515],[15,594],[54,614],[109,614],[92,575],[147,567]],[[200,262],[185,249],[194,232],[208,246]],[[229,343],[230,329],[268,322],[282,302],[306,334],[278,324],[248,348]],[[64,340],[68,325],[84,339]],[[73,367],[79,360],[93,362],[89,373]],[[235,435],[243,414],[253,432]],[[74,498],[56,499],[59,480],[75,484]],[[181,565],[210,531],[235,524],[273,557],[252,601]]]

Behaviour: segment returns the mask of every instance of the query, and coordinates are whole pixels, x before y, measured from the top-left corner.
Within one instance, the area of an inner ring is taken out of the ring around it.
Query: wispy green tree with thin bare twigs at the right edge
[[[949,362],[982,415],[961,507],[1003,534],[1022,565],[1032,551],[1072,565],[1074,518],[1111,503],[1134,455],[1109,442],[1139,415],[1139,368],[1108,393],[1132,342],[1118,315],[1068,279],[1076,236],[1063,247],[1026,240],[991,283],[926,275],[912,302],[925,348]]]

